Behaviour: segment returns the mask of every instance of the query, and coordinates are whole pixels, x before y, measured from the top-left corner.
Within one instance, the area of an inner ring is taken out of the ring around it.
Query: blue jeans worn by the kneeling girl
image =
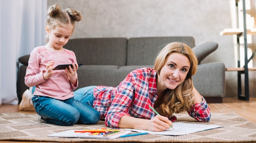
[[[47,96],[34,95],[32,98],[36,113],[46,118],[45,123],[61,126],[73,124],[96,124],[100,114],[89,104],[69,98],[57,100]]]

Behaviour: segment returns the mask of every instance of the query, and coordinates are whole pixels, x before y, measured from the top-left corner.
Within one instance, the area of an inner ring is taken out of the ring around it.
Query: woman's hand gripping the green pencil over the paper
[[[149,120],[148,130],[154,132],[162,132],[171,128],[170,125],[173,126],[172,122],[167,117],[156,115]]]

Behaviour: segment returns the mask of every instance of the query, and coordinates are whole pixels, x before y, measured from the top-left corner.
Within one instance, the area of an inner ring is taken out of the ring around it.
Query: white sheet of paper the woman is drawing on
[[[172,136],[178,136],[178,135],[184,135],[184,134],[191,134],[193,132],[200,132],[204,130],[210,130],[214,128],[220,128],[223,126],[216,126],[216,125],[204,125],[204,124],[188,124],[188,123],[182,123],[177,122],[173,123],[173,128],[170,128],[163,132],[153,132],[148,130],[137,130],[137,129],[125,129],[130,130],[134,132],[148,132],[148,134],[161,134],[161,135],[172,135]]]

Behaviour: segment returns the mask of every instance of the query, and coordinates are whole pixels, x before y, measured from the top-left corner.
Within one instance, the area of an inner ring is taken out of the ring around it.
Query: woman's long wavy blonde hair
[[[198,60],[185,43],[173,42],[166,45],[157,55],[154,69],[159,75],[161,69],[166,63],[167,57],[172,53],[180,53],[189,58],[190,68],[189,72],[180,85],[175,89],[166,89],[164,103],[160,105],[158,111],[161,115],[170,116],[173,113],[180,113],[182,111],[189,111],[193,106],[193,81],[192,76],[196,73]]]

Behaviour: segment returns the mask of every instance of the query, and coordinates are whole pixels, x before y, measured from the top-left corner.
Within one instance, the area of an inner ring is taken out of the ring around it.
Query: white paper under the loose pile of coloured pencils
[[[66,138],[97,138],[97,139],[115,139],[120,136],[130,134],[132,131],[126,130],[124,133],[117,134],[110,137],[104,137],[103,135],[89,135],[89,132],[81,133],[81,132],[74,132],[75,130],[67,130],[64,132],[58,132],[54,134],[49,134],[48,137],[66,137]],[[83,130],[79,130],[83,131]]]

